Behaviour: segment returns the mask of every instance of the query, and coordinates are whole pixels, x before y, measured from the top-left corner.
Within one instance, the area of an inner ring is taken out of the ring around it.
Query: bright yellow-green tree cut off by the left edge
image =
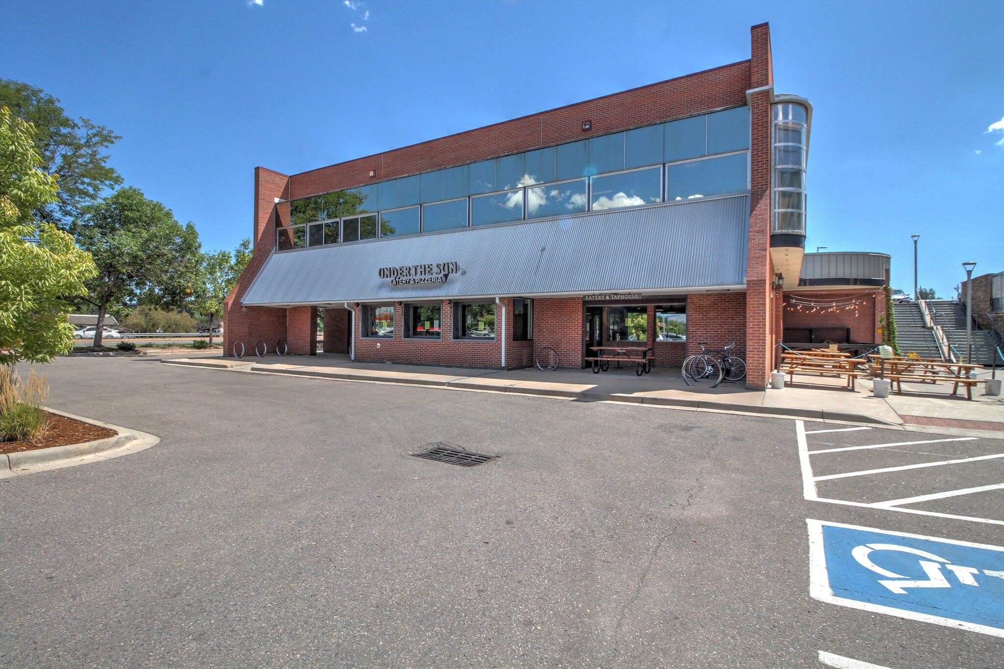
[[[56,200],[34,128],[0,106],[0,364],[48,362],[73,348],[67,298],[86,293],[90,257],[33,212]]]

